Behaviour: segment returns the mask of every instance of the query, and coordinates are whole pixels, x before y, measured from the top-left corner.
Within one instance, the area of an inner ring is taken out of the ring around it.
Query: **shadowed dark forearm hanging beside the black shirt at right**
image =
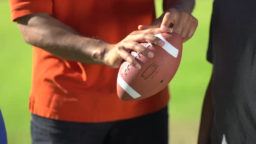
[[[213,106],[212,106],[212,78],[211,78],[207,88],[207,92],[205,94],[204,101],[203,101],[198,144],[209,144],[212,122],[213,122]]]

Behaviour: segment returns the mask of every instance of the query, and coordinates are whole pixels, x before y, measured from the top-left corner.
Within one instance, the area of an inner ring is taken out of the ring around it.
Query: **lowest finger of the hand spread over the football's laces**
[[[131,53],[127,52],[124,46],[118,47],[118,53],[122,59],[129,62],[136,69],[141,69],[141,65],[135,60]]]

